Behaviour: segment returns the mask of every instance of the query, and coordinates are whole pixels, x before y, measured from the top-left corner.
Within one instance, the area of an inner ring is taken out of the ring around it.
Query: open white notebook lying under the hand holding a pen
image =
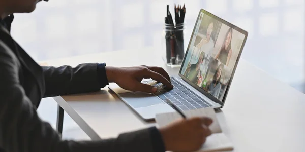
[[[199,151],[231,151],[233,150],[233,144],[228,137],[222,132],[221,127],[216,118],[214,108],[202,108],[184,111],[187,117],[209,117],[213,120],[213,123],[209,126],[212,134],[206,138],[205,143],[202,145]],[[163,127],[176,119],[180,119],[181,116],[177,112],[161,113],[156,115],[156,122],[159,127]]]

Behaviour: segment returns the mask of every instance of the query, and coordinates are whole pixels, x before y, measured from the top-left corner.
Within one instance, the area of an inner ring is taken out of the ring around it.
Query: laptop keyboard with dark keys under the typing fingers
[[[153,85],[158,88],[158,91],[155,94],[164,102],[168,103],[167,100],[170,100],[181,110],[199,109],[212,106],[175,79],[171,79],[171,82],[174,86],[172,90],[165,89],[161,83]]]

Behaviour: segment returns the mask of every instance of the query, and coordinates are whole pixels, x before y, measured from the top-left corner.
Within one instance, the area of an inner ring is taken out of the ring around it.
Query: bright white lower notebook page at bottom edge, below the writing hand
[[[224,133],[211,134],[206,138],[205,143],[202,145],[200,152],[211,151],[231,151],[233,144]]]

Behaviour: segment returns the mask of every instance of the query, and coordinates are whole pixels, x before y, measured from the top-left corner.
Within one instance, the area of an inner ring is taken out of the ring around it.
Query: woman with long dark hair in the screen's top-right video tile
[[[232,49],[231,49],[232,34],[233,34],[233,30],[232,28],[229,28],[226,33],[224,42],[221,48],[219,49],[217,55],[215,56],[215,59],[220,60],[220,62],[222,62],[226,66],[229,65],[232,56]]]

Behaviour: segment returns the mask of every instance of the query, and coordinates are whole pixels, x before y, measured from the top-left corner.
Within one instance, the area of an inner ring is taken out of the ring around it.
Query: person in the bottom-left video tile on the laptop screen
[[[197,83],[199,76],[201,75],[200,71],[200,65],[203,61],[204,52],[201,52],[199,54],[199,59],[196,64],[190,64],[186,71],[185,71],[185,77],[187,77],[191,82]]]

